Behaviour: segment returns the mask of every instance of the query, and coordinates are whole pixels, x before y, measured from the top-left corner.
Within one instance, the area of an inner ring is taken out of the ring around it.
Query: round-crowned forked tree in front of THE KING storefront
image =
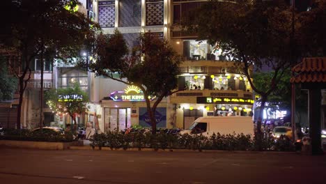
[[[163,98],[176,93],[177,76],[180,74],[180,56],[166,40],[153,33],[141,33],[139,45],[128,52],[119,31],[111,36],[98,36],[94,48],[96,62],[89,68],[96,75],[104,75],[143,91],[153,134],[156,132],[155,111]],[[116,77],[118,74],[119,77]],[[150,101],[149,96],[155,96]]]

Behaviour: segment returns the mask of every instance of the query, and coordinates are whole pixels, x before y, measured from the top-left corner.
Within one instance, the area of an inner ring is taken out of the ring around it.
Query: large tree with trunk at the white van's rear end
[[[251,88],[261,95],[258,114],[257,138],[261,139],[261,119],[268,95],[290,67],[294,59],[291,11],[283,1],[208,1],[181,22],[184,31],[194,32],[199,39],[231,55],[239,66],[238,72],[246,75]],[[251,80],[253,67],[272,70],[272,76],[263,89]],[[260,149],[259,147],[258,149]]]

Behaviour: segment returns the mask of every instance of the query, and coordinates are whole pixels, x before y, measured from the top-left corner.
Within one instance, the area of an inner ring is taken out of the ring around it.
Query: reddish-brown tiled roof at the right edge
[[[291,77],[291,83],[326,82],[326,57],[304,58],[292,71],[296,75]]]

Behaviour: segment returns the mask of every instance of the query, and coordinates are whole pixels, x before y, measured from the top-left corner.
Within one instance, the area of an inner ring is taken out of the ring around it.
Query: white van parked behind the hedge
[[[243,133],[244,135],[254,136],[254,123],[250,116],[206,116],[197,118],[187,130],[180,134],[203,134],[206,137],[212,136],[215,132],[220,135]]]

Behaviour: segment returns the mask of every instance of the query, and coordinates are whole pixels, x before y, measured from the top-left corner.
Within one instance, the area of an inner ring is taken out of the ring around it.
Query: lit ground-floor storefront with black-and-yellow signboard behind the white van
[[[254,100],[248,91],[180,91],[170,100],[176,109],[176,128],[188,128],[202,116],[252,116]]]

